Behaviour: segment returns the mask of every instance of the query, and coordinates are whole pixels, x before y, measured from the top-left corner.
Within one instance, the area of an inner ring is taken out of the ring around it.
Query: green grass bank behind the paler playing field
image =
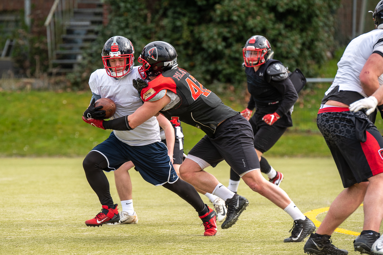
[[[319,95],[314,96],[319,98]],[[90,92],[0,92],[0,101],[0,112],[3,113],[0,115],[0,156],[85,155],[110,134],[110,130],[92,127],[81,119],[82,112],[89,104]],[[246,107],[225,98],[224,101],[239,111]],[[303,108],[300,108],[297,103],[293,113],[295,127],[278,141],[270,154],[329,156],[316,128],[317,109],[308,111],[307,107],[307,104],[303,104]],[[205,134],[187,124],[183,124],[183,130],[185,153],[188,153]],[[302,130],[317,133],[295,133]],[[286,148],[286,144],[292,147]],[[303,148],[302,144],[310,148]],[[319,151],[315,153],[318,148]]]

